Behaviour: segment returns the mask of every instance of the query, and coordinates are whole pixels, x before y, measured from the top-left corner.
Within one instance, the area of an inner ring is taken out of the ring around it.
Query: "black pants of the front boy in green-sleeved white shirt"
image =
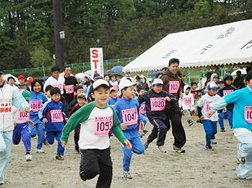
[[[85,149],[81,152],[80,177],[86,181],[99,174],[96,188],[109,188],[112,181],[110,148],[105,150]]]

